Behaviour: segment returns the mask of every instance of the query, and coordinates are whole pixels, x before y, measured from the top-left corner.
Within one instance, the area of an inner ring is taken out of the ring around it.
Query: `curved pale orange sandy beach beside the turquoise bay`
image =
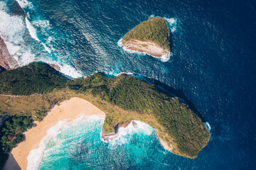
[[[26,140],[11,151],[4,169],[26,169],[29,152],[31,149],[39,147],[40,141],[47,135],[47,130],[60,120],[70,121],[80,117],[80,115],[100,115],[105,117],[104,112],[82,98],[75,97],[70,98],[68,101],[63,101],[60,106],[54,106],[40,123],[36,122],[36,127],[25,132]]]

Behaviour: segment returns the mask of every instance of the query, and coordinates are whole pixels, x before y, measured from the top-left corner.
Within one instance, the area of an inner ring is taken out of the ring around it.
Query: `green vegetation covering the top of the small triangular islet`
[[[123,44],[127,41],[151,41],[170,51],[169,30],[167,22],[161,17],[151,17],[143,21],[124,35]]]

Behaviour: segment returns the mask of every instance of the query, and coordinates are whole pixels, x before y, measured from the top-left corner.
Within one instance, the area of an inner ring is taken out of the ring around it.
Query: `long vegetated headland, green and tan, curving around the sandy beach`
[[[196,158],[210,137],[201,119],[180,98],[135,77],[95,73],[70,80],[48,64],[33,62],[2,72],[0,84],[0,116],[5,120],[0,128],[1,163],[24,140],[23,132],[34,120],[43,120],[55,104],[74,96],[106,113],[103,132],[113,132],[120,122],[141,120],[156,130],[171,152],[183,157]]]

